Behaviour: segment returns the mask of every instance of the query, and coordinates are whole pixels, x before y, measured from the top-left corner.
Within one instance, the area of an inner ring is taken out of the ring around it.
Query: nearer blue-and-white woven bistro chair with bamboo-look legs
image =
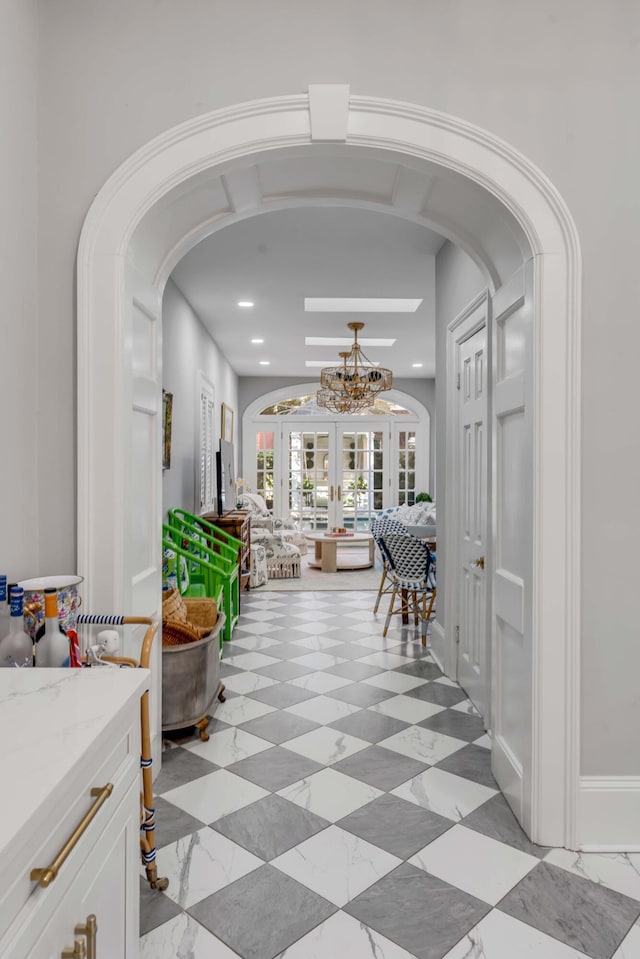
[[[389,556],[392,579],[391,601],[382,635],[387,635],[394,613],[413,613],[416,625],[418,622],[421,624],[422,645],[426,646],[427,626],[436,598],[429,547],[409,533],[383,533],[381,538],[383,548]],[[394,609],[398,593],[400,607]]]

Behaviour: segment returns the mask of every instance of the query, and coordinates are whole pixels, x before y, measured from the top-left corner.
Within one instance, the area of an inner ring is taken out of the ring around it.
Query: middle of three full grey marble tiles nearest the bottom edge
[[[490,906],[404,863],[344,906],[344,912],[417,959],[442,959]]]

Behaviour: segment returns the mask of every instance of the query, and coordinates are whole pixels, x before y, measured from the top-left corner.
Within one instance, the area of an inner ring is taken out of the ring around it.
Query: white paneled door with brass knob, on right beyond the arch
[[[458,682],[487,716],[487,328],[458,344]]]

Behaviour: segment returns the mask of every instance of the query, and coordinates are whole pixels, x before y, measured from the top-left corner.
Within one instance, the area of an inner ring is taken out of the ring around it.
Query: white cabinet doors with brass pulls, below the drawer
[[[63,949],[73,947],[74,927],[86,923],[91,913],[98,924],[97,957],[137,959],[139,795],[136,779],[59,902],[53,896],[47,901],[46,894],[55,893],[55,883],[42,890],[32,916],[32,923],[35,921],[40,930],[37,939],[35,943],[31,937],[25,941],[29,934],[26,930],[22,944],[15,943],[12,959],[60,959]],[[59,878],[69,868],[73,869],[73,853]]]

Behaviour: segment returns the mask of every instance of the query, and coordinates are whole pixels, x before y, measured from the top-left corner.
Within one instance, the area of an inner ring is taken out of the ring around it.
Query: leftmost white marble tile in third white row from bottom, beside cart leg
[[[268,795],[266,789],[247,782],[227,769],[216,769],[213,773],[170,789],[162,794],[162,798],[184,809],[200,822],[209,824]]]

